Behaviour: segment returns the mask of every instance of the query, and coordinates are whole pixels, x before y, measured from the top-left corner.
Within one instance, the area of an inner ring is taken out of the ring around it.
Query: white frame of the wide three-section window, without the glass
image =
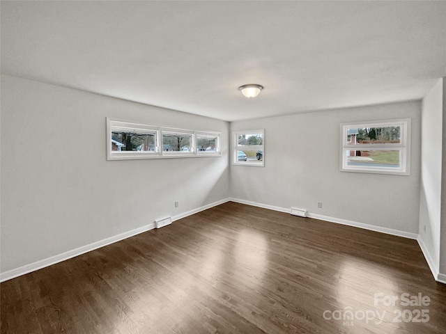
[[[206,130],[177,129],[174,127],[160,127],[157,125],[147,125],[142,122],[128,120],[118,120],[107,117],[107,160],[132,160],[132,159],[165,159],[184,157],[221,157],[222,156],[222,133]],[[155,150],[152,151],[114,151],[112,150],[112,132],[124,130],[128,132],[141,132],[153,134],[155,136]],[[190,151],[163,152],[162,135],[180,134],[190,136]],[[197,152],[197,136],[209,136],[217,138],[215,152]]]

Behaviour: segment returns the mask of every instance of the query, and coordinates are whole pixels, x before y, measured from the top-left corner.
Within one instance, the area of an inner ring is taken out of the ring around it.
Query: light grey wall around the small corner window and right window
[[[420,205],[420,102],[231,123],[265,129],[265,167],[231,166],[231,196],[416,235]],[[412,119],[410,176],[339,171],[340,123]],[[323,202],[318,209],[317,202]]]

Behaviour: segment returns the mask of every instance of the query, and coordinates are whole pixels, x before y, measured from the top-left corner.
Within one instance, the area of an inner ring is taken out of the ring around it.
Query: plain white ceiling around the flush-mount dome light
[[[446,1],[1,1],[1,72],[229,121],[417,100]]]

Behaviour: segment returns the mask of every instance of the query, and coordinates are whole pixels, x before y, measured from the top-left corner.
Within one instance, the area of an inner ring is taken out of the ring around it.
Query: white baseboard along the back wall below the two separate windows
[[[275,211],[279,211],[279,212],[286,212],[286,213],[291,212],[291,208],[286,208],[286,207],[275,207],[272,205],[266,205],[266,204],[261,204],[261,203],[256,203],[256,202],[249,202],[248,200],[239,200],[238,198],[230,198],[230,200],[232,202],[238,202],[238,203],[242,203],[242,204],[252,205],[254,207],[263,207],[264,209],[271,209],[271,210],[275,210]],[[397,237],[404,237],[404,238],[408,238],[408,239],[417,239],[417,236],[418,236],[418,234],[416,234],[416,233],[410,233],[410,232],[405,232],[405,231],[400,231],[400,230],[393,230],[392,228],[382,228],[380,226],[369,225],[369,224],[364,224],[364,223],[357,223],[355,221],[347,221],[346,219],[322,216],[321,214],[312,214],[311,212],[307,213],[307,217],[319,219],[321,221],[330,221],[330,223],[338,223],[338,224],[342,224],[342,225],[354,226],[355,228],[364,228],[365,230],[371,230],[371,231],[375,231],[375,232],[392,234],[392,235],[396,235]]]

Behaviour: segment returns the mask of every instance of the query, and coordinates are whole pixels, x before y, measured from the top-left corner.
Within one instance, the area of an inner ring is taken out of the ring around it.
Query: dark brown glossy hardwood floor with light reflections
[[[446,331],[417,241],[233,202],[0,289],[9,334]]]

